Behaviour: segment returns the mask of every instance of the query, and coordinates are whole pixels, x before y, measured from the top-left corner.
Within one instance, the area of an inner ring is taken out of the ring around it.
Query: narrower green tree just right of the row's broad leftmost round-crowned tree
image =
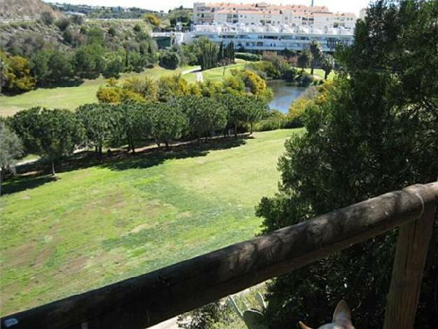
[[[93,145],[95,152],[102,156],[102,147],[113,137],[118,121],[111,106],[81,105],[76,110],[76,115],[85,128],[86,144]]]

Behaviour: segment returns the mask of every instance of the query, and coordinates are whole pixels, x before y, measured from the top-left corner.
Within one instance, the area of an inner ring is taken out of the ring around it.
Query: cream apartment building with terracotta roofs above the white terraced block
[[[354,13],[332,13],[326,6],[231,4],[195,2],[193,22],[195,25],[291,25],[317,29],[343,27],[354,29]]]

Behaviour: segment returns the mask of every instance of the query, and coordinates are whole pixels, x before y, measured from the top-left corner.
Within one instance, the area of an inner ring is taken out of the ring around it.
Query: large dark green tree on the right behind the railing
[[[437,10],[437,0],[377,1],[357,22],[355,43],[338,55],[338,79],[306,109],[306,132],[285,144],[279,192],[257,208],[264,232],[437,180],[438,76],[422,74],[438,72]],[[266,311],[273,328],[299,314],[323,323],[343,298],[356,303],[357,328],[381,328],[395,233],[275,278]],[[433,234],[416,328],[436,325],[437,247]]]

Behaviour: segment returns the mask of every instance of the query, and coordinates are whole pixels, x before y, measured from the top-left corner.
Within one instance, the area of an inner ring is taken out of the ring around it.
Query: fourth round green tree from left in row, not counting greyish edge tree
[[[149,111],[151,121],[151,135],[158,147],[161,143],[169,146],[171,140],[182,137],[187,126],[187,117],[179,107],[173,107],[167,103],[154,103]]]

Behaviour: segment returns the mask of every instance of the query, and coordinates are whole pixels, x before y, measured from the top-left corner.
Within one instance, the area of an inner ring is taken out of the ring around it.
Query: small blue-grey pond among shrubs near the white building
[[[306,87],[292,86],[284,80],[268,81],[268,86],[272,88],[274,93],[274,98],[269,103],[269,107],[278,109],[282,113],[287,113],[289,105],[306,90]]]

